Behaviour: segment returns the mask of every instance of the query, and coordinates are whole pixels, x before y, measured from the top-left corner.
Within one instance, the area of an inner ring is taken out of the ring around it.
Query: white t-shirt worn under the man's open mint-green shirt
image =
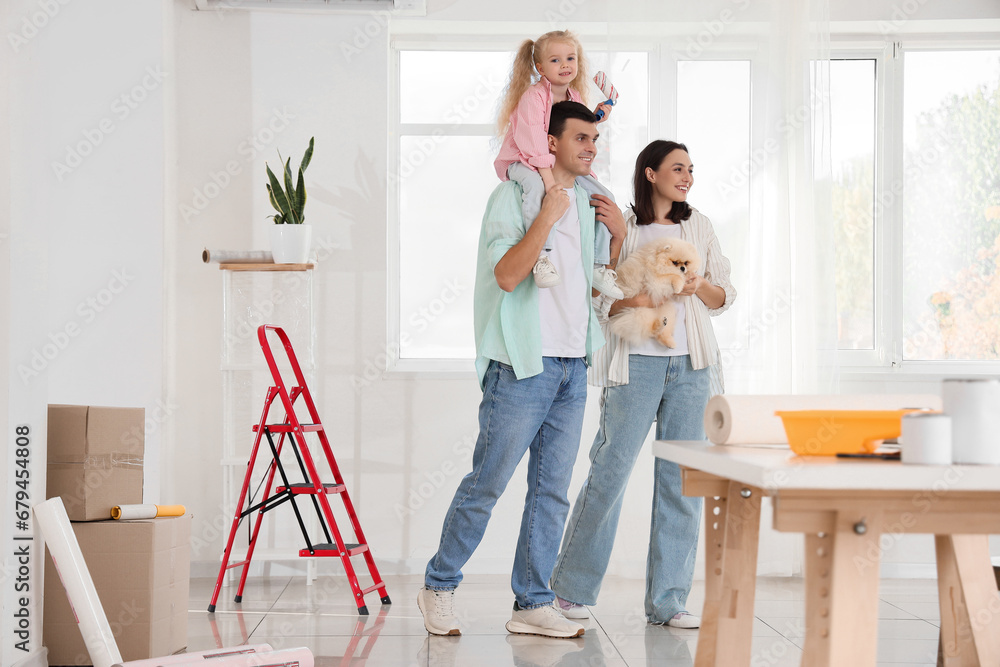
[[[587,325],[590,299],[583,269],[580,243],[580,213],[574,188],[566,188],[569,209],[553,226],[549,259],[562,282],[538,290],[538,314],[542,323],[543,357],[587,356]]]

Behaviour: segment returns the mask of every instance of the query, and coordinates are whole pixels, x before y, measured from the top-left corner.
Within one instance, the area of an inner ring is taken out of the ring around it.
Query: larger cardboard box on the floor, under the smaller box
[[[191,517],[74,523],[73,531],[122,658],[159,658],[185,648]],[[48,555],[44,600],[49,665],[92,664]]]

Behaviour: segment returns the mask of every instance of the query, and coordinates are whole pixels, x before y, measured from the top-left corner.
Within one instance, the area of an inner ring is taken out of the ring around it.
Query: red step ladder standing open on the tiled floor
[[[288,355],[288,362],[291,365],[292,372],[295,374],[296,382],[291,389],[286,387],[281,377],[281,371],[278,369],[277,363],[275,363],[274,354],[271,352],[271,345],[268,342],[268,331],[273,331],[278,336],[285,348],[285,353]],[[241,602],[243,600],[243,588],[246,585],[247,573],[250,570],[250,560],[253,558],[254,547],[264,514],[285,502],[291,503],[295,518],[299,523],[299,529],[302,531],[302,537],[305,539],[306,548],[299,550],[299,556],[303,558],[339,557],[344,565],[347,578],[350,581],[351,590],[354,593],[354,602],[358,606],[359,614],[368,613],[364,596],[375,590],[378,591],[382,604],[391,604],[389,594],[385,590],[385,583],[378,573],[378,568],[375,567],[375,559],[372,558],[368,540],[365,539],[364,533],[361,530],[358,515],[354,511],[351,497],[347,493],[347,487],[344,485],[344,478],[340,474],[340,468],[333,457],[333,450],[326,436],[326,430],[323,428],[323,424],[320,423],[319,414],[316,412],[316,404],[313,402],[309,387],[306,386],[305,377],[302,375],[302,368],[295,357],[295,351],[292,350],[292,344],[289,342],[288,336],[280,327],[262,324],[257,328],[257,338],[260,340],[261,350],[263,350],[268,368],[271,370],[274,386],[268,388],[267,397],[264,399],[264,410],[260,415],[260,422],[253,427],[253,431],[257,435],[254,438],[250,461],[247,463],[243,488],[240,490],[240,498],[236,503],[236,515],[233,517],[233,525],[229,529],[229,540],[226,542],[226,550],[222,555],[222,565],[219,568],[219,577],[215,582],[215,591],[212,593],[212,601],[208,605],[208,611],[215,611],[215,605],[219,599],[219,590],[222,588],[226,571],[231,568],[243,567],[243,572],[240,575],[240,584],[236,590],[235,601]],[[284,416],[277,422],[272,421],[268,423],[268,412],[276,398],[281,399],[280,405],[284,408]],[[307,423],[301,422],[295,413],[295,402],[300,399],[305,403],[305,407],[309,413],[309,422]],[[309,447],[306,442],[307,433],[315,433],[319,436],[323,453],[326,455],[326,462],[329,464],[330,472],[333,474],[334,483],[323,483],[321,481],[316,464],[309,453]],[[267,444],[271,450],[271,462],[268,465],[261,500],[259,503],[251,506],[253,500],[252,498],[248,499],[248,491],[262,438],[267,440]],[[288,476],[285,473],[285,468],[281,463],[280,457],[286,442],[295,454],[299,472],[303,478],[302,482],[289,482]],[[275,481],[274,476],[276,473],[281,478],[281,484],[275,488],[272,487],[272,484]],[[307,495],[312,501],[313,509],[323,527],[326,542],[313,543],[310,538],[309,531],[302,520],[302,514],[295,502],[296,496],[299,495]],[[357,542],[344,542],[330,507],[329,497],[331,495],[336,495],[343,501]],[[245,508],[244,505],[246,505]],[[236,563],[230,563],[229,556],[233,550],[233,540],[236,538],[236,532],[239,530],[242,521],[254,512],[257,513],[257,517],[254,520],[253,530],[250,533],[246,558]],[[368,572],[374,582],[371,586],[361,588],[358,584],[358,577],[351,563],[352,556],[364,556],[365,563],[368,565]]]

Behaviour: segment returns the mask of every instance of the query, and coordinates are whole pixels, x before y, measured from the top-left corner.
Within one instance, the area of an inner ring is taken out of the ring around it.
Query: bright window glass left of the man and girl
[[[496,186],[493,119],[504,51],[400,51],[399,355],[471,358],[472,288],[483,207]],[[448,76],[441,76],[448,72]]]

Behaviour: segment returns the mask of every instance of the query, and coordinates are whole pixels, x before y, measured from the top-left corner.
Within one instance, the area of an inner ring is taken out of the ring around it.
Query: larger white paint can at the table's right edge
[[[945,380],[955,463],[1000,465],[1000,380]]]

